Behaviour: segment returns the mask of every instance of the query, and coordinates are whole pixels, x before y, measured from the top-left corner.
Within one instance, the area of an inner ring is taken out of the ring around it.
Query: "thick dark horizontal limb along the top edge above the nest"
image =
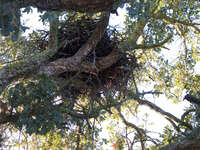
[[[37,7],[41,10],[99,12],[111,10],[116,0],[20,0],[18,7]]]

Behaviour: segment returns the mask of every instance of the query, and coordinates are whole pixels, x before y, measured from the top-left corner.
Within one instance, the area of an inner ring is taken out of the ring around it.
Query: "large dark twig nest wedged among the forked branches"
[[[59,58],[72,57],[87,42],[98,21],[99,19],[84,16],[78,19],[69,18],[60,23],[58,43],[67,42],[58,49],[57,53],[49,59],[49,62]],[[46,37],[48,37],[48,33],[41,32],[41,35],[39,47],[43,49],[47,46]],[[63,89],[65,95],[77,97],[81,94],[106,94],[110,90],[120,91],[125,87],[137,65],[135,57],[128,57],[127,54],[118,50],[120,41],[120,34],[117,30],[108,27],[97,46],[85,58],[87,62],[95,65],[98,59],[108,56],[115,50],[119,54],[119,58],[108,68],[102,69],[98,73],[71,71],[59,74],[57,76],[59,79],[70,81]]]

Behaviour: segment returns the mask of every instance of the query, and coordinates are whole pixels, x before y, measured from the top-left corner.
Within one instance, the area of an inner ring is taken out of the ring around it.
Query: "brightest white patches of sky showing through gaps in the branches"
[[[125,14],[125,10],[124,9],[119,9],[118,10],[118,14],[119,16],[116,16],[115,14],[111,15],[110,17],[110,24],[113,26],[121,26],[123,27],[123,22],[125,20],[124,18],[124,14]],[[28,35],[28,33],[31,33],[33,30],[38,30],[38,29],[45,29],[46,27],[43,25],[42,21],[39,21],[39,15],[36,11],[36,9],[33,9],[33,13],[30,14],[24,14],[23,15],[23,19],[22,19],[22,23],[26,23],[25,25],[28,26],[30,29],[28,31],[26,31],[25,35]],[[168,47],[170,48],[170,50],[163,50],[163,53],[165,55],[167,55],[168,58],[170,58],[171,60],[175,59],[176,53],[178,53],[180,47],[181,47],[181,43],[179,40],[175,41],[176,43],[172,43],[171,45],[168,45]],[[174,45],[176,45],[174,47]],[[200,66],[200,63],[197,64],[196,68],[197,70],[199,70],[200,73],[200,69],[198,69]],[[144,87],[144,89],[146,89],[146,87]],[[172,101],[167,100],[164,96],[161,96],[159,99],[156,99],[152,96],[146,97],[149,101],[153,102],[154,104],[158,105],[159,107],[161,107],[162,109],[174,114],[176,117],[181,116],[181,114],[183,113],[183,110],[185,108],[185,106],[188,106],[189,103],[187,101],[182,101],[179,104],[174,104]],[[149,130],[151,131],[162,131],[164,126],[166,124],[169,124],[168,121],[166,121],[166,119],[164,119],[163,116],[159,115],[158,113],[155,113],[154,111],[150,110],[148,107],[145,106],[140,106],[141,107],[141,113],[138,115],[138,118],[142,118],[143,115],[145,113],[149,114],[150,120],[152,122],[154,122],[153,125],[149,126]],[[137,118],[131,118],[131,116],[129,116],[130,118],[128,118],[129,121],[137,124],[138,122],[140,122],[139,119]],[[109,121],[105,122],[103,124],[103,130],[105,130],[105,132],[102,132],[101,136],[104,137],[109,137],[108,134],[106,132],[106,127],[109,125]],[[110,150],[111,145],[107,145],[104,146],[105,150],[108,149]]]

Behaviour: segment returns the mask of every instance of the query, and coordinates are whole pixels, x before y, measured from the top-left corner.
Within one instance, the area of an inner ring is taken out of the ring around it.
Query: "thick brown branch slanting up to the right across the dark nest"
[[[84,58],[89,54],[89,52],[96,47],[99,40],[104,35],[104,32],[106,30],[106,27],[108,25],[109,21],[109,12],[105,12],[102,14],[101,20],[97,24],[92,36],[88,39],[88,41],[78,50],[78,52],[69,58],[60,58],[58,60],[55,60],[54,62],[49,63],[47,66],[43,66],[40,69],[40,72],[45,72],[49,75],[58,75],[60,73],[66,72],[66,71],[77,71],[80,70],[81,65],[83,69],[89,68],[87,64],[85,65],[82,63]],[[85,68],[84,68],[85,67]],[[93,67],[94,68],[94,67]],[[91,68],[92,69],[92,68]]]

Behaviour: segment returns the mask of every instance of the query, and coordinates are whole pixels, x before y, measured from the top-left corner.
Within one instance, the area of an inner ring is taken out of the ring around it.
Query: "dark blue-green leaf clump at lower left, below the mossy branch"
[[[63,116],[56,109],[55,83],[41,75],[36,81],[20,82],[11,87],[6,95],[9,105],[16,112],[14,126],[26,128],[27,133],[46,134],[59,128]]]

